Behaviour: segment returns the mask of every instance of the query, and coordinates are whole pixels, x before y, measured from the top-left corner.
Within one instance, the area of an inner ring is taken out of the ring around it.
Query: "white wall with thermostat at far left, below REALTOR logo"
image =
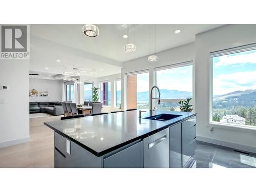
[[[29,60],[0,60],[0,147],[29,141]]]

